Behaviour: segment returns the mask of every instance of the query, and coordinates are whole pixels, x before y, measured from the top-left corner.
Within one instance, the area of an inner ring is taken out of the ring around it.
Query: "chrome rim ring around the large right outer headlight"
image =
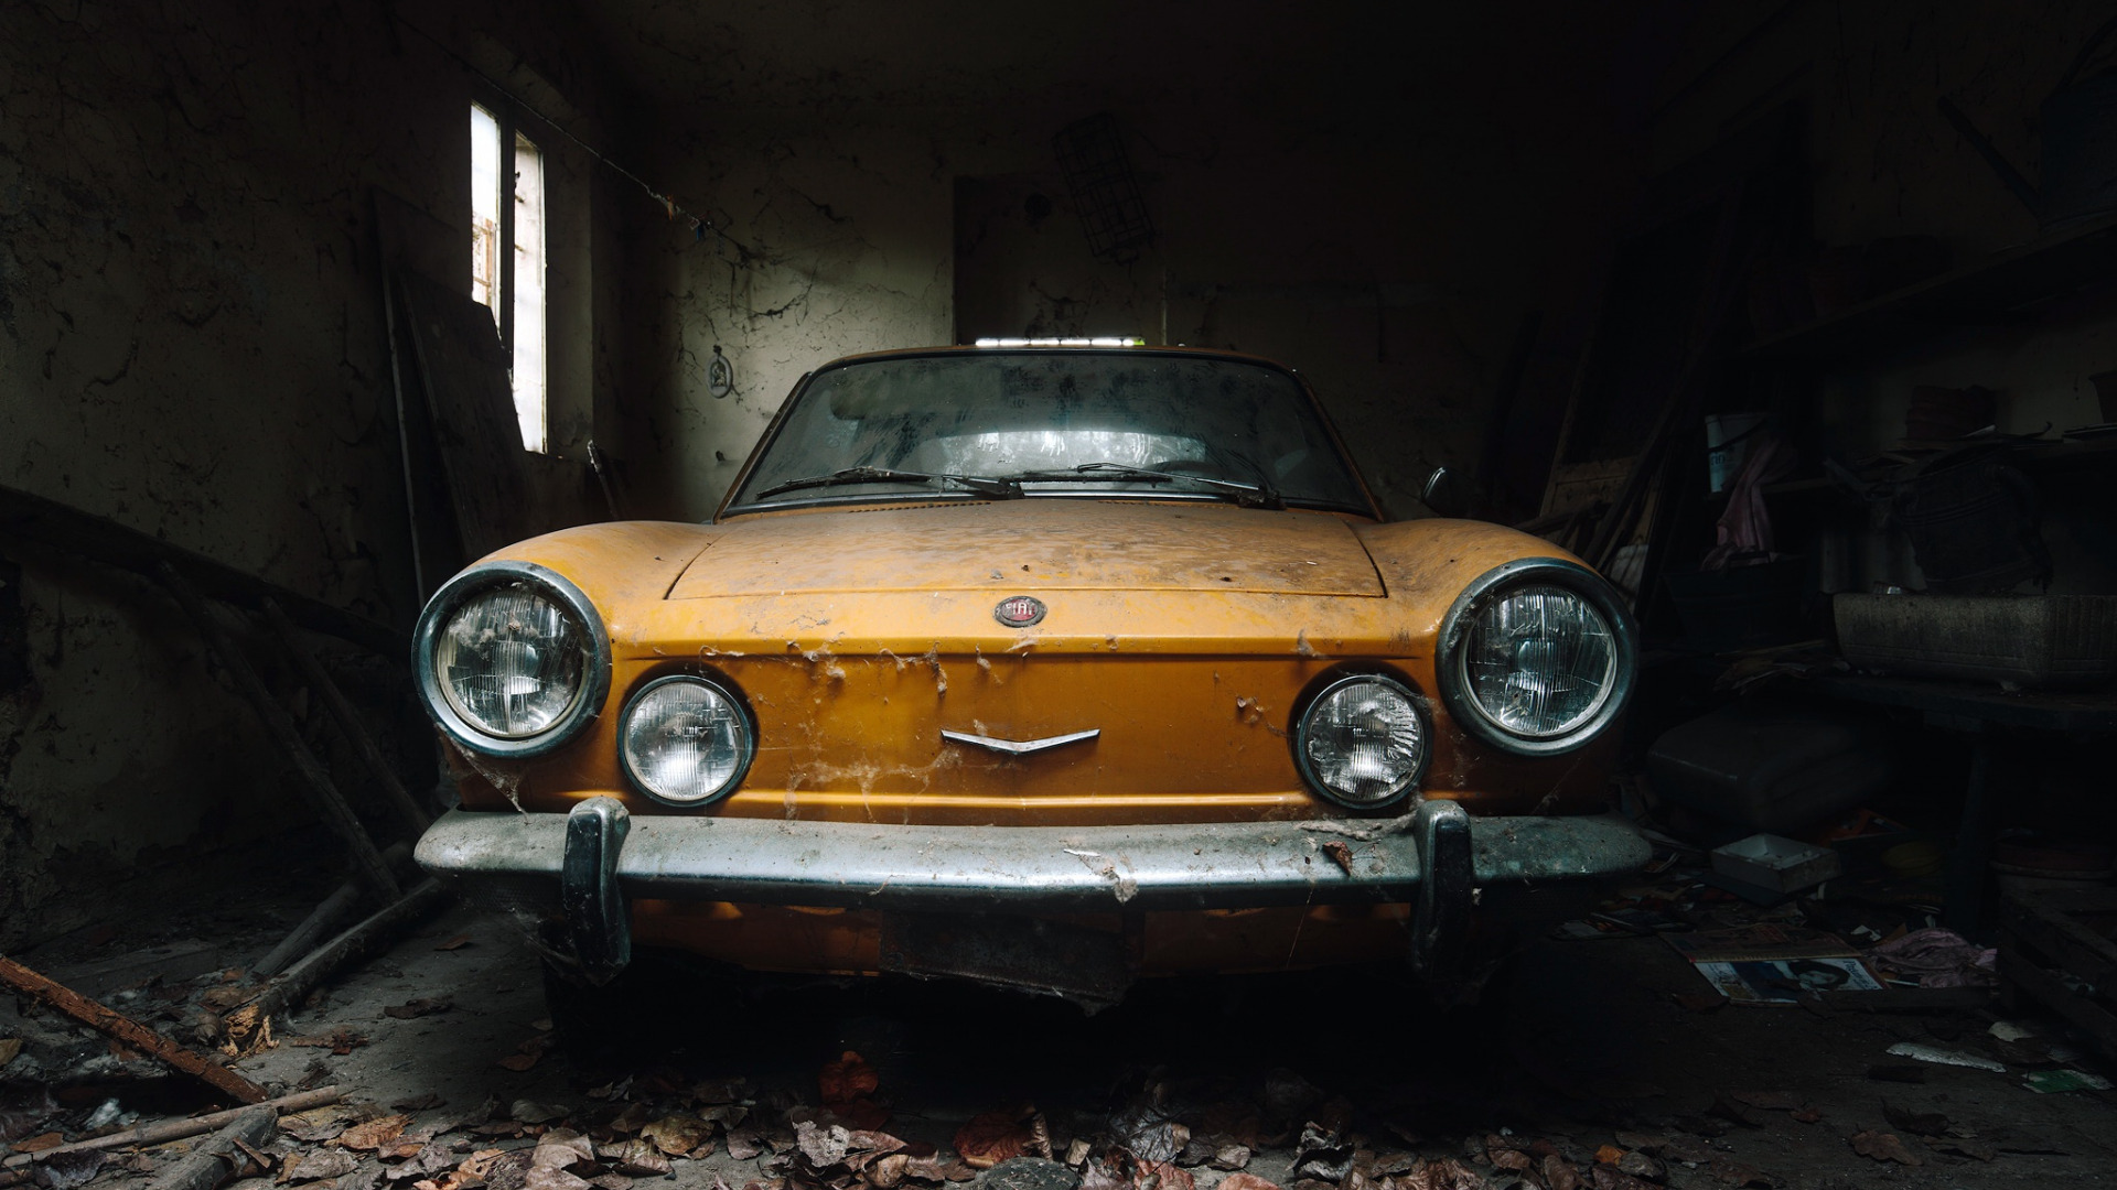
[[[1522,587],[1560,587],[1579,595],[1609,625],[1613,650],[1611,686],[1594,714],[1564,735],[1522,735],[1509,731],[1486,714],[1484,705],[1471,692],[1469,654],[1463,648],[1463,637],[1469,633],[1473,616],[1488,601]],[[1562,756],[1600,737],[1632,701],[1632,684],[1639,678],[1639,633],[1632,627],[1632,612],[1624,606],[1617,589],[1600,574],[1577,561],[1524,557],[1480,574],[1456,595],[1448,614],[1442,616],[1435,678],[1440,680],[1442,705],[1448,707],[1448,718],[1465,733],[1516,756]]]

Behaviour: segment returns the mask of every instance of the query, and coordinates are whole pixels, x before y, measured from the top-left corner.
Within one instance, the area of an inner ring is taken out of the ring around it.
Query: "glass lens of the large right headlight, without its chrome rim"
[[[1471,616],[1463,675],[1499,728],[1528,739],[1569,735],[1617,688],[1615,631],[1564,587],[1516,587]]]

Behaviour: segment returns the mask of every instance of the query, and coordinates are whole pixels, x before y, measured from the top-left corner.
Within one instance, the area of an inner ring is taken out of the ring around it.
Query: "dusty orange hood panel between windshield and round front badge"
[[[669,599],[1014,587],[1385,593],[1351,523],[1325,512],[1010,500],[739,517],[718,525]]]

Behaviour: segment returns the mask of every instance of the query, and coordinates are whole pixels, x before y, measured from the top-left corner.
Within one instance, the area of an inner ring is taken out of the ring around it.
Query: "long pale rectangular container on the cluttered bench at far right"
[[[1876,673],[2096,686],[2117,678],[2117,595],[1833,595],[1838,648]]]

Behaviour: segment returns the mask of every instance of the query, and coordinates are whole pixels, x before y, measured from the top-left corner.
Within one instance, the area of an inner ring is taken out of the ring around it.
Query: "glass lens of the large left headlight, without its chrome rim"
[[[472,595],[434,639],[434,678],[476,731],[527,739],[550,731],[580,697],[582,625],[529,582]]]

